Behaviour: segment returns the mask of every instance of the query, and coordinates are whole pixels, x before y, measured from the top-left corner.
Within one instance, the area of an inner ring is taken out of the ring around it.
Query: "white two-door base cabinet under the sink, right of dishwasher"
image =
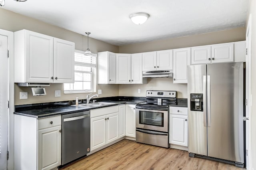
[[[90,111],[91,151],[119,138],[119,107],[103,107]]]

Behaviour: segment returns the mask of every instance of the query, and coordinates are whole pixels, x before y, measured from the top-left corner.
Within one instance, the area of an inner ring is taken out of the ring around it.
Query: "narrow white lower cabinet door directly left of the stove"
[[[126,136],[133,138],[136,137],[135,117],[135,105],[126,105]]]

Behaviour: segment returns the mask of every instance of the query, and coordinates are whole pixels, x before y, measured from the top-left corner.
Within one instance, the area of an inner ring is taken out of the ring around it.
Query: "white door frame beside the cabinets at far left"
[[[7,168],[14,169],[14,32],[0,29],[0,35],[7,36],[9,50],[9,114],[8,114],[8,151]]]

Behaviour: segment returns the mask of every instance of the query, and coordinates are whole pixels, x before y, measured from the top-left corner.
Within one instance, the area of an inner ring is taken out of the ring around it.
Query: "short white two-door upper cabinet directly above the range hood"
[[[142,53],[142,71],[172,70],[172,49]]]

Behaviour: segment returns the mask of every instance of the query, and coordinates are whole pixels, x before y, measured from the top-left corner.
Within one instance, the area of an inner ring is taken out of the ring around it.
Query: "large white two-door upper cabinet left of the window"
[[[75,43],[44,34],[14,32],[14,82],[74,83]]]

